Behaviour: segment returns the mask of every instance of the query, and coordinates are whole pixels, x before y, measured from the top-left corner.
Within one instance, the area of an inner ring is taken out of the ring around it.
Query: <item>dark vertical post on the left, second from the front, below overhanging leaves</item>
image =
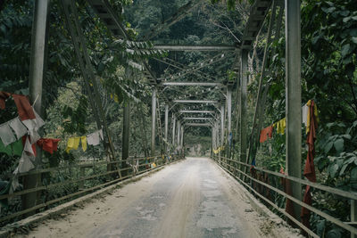
[[[128,168],[127,159],[129,157],[129,127],[130,127],[130,103],[126,101],[123,113],[123,132],[122,132],[122,150],[121,150],[121,168]],[[121,176],[127,176],[128,170],[121,172]]]

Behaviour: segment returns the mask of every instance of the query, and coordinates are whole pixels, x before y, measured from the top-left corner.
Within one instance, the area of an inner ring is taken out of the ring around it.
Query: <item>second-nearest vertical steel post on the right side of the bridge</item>
[[[247,125],[246,125],[246,94],[248,82],[248,51],[242,50],[241,53],[241,75],[240,75],[240,161],[246,162],[246,147],[247,147]],[[241,170],[244,171],[245,166],[241,165]]]

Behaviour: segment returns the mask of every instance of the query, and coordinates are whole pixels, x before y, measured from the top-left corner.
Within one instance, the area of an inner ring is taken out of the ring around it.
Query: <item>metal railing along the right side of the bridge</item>
[[[284,196],[286,199],[293,201],[297,203],[298,205],[311,210],[311,212],[319,215],[320,217],[324,217],[326,220],[329,222],[335,224],[336,226],[339,226],[346,231],[351,233],[351,237],[354,237],[353,235],[357,234],[357,229],[353,226],[357,225],[357,222],[353,221],[353,217],[351,217],[351,221],[341,221],[337,219],[336,217],[330,216],[328,213],[321,211],[320,209],[316,209],[312,207],[311,205],[299,201],[295,199],[292,195],[282,191],[280,188],[273,186],[272,184],[277,184],[277,183],[266,183],[262,180],[257,179],[256,177],[253,177],[251,174],[247,174],[245,169],[242,168],[252,168],[252,165],[246,164],[244,162],[238,161],[238,160],[232,160],[226,157],[222,156],[212,156],[212,160],[215,160],[221,168],[226,170],[231,176],[234,176],[240,184],[244,185],[251,193],[255,194],[258,196],[262,201],[267,202],[273,209],[276,209],[280,214],[283,214],[286,216],[288,219],[290,219],[292,222],[295,223],[295,225],[299,226],[303,231],[305,231],[307,234],[311,235],[312,237],[320,237],[318,234],[315,234],[314,232],[311,231],[308,227],[304,226],[303,223],[295,219],[295,217],[291,216],[289,213],[286,212],[285,209],[280,208],[277,204],[275,204],[273,201],[270,201],[268,196],[265,194],[262,194],[262,191],[273,191],[275,193],[278,193],[282,196]],[[329,187],[326,185],[320,185],[318,183],[311,183],[308,180],[304,180],[298,177],[294,176],[287,176],[282,173],[278,173],[275,171],[270,171],[265,168],[259,168],[259,167],[253,167],[253,169],[257,171],[261,171],[262,173],[265,173],[267,175],[273,176],[276,179],[286,179],[288,181],[293,181],[295,183],[299,183],[301,185],[310,185],[313,188],[319,189],[322,192],[326,193],[332,193],[335,194],[337,197],[339,196],[340,198],[345,198],[347,200],[351,200],[352,204],[354,204],[354,201],[357,201],[357,193],[353,192],[347,192],[344,190],[336,189],[334,187]],[[261,187],[258,187],[257,185],[260,185]],[[262,189],[265,188],[265,189]],[[270,192],[269,192],[270,193]],[[351,214],[353,216],[353,214]]]

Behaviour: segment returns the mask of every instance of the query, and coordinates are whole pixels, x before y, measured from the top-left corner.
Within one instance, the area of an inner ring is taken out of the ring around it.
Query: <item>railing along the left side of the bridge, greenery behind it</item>
[[[21,173],[18,175],[18,179],[36,174],[41,175],[42,179],[34,188],[0,195],[0,201],[9,203],[8,208],[10,208],[1,210],[0,227],[20,220],[26,214],[53,208],[65,201],[71,201],[105,186],[114,185],[129,177],[143,174],[183,158],[181,155],[129,158],[134,162],[127,163],[127,166],[122,166],[121,160],[93,160],[93,162],[79,162]],[[12,179],[14,178],[12,176]],[[41,202],[32,208],[21,209],[21,195],[34,192],[40,194],[39,201]]]

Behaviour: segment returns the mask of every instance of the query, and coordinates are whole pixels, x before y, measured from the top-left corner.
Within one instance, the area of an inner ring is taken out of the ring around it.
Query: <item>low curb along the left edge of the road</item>
[[[145,173],[142,173],[142,174],[137,175],[137,176],[132,176],[132,177],[130,177],[128,179],[125,179],[123,181],[120,181],[120,182],[118,182],[118,183],[116,183],[114,185],[106,186],[106,187],[104,187],[104,188],[102,188],[102,189],[100,189],[98,191],[95,191],[94,193],[89,193],[89,194],[84,195],[84,196],[82,196],[82,197],[80,197],[78,199],[65,202],[62,205],[54,207],[53,209],[47,209],[46,211],[37,213],[37,214],[35,214],[33,216],[26,217],[26,218],[24,218],[24,219],[22,219],[20,221],[14,222],[14,223],[9,224],[9,225],[6,225],[6,226],[1,228],[2,230],[0,230],[0,238],[12,237],[12,232],[14,232],[15,229],[17,229],[17,228],[20,228],[20,227],[23,227],[23,226],[31,226],[33,224],[36,224],[36,223],[38,223],[40,221],[45,220],[46,218],[56,216],[56,215],[62,213],[63,211],[66,211],[68,209],[73,208],[75,205],[77,205],[77,204],[79,204],[81,202],[85,202],[85,201],[88,201],[90,199],[93,199],[96,196],[99,196],[99,195],[101,195],[103,193],[108,193],[108,192],[116,189],[117,186],[119,186],[119,185],[127,185],[130,182],[135,182],[135,181],[137,181],[137,179],[143,178],[145,176],[149,176],[151,174],[154,174],[155,172],[160,171],[165,166],[169,166],[169,165],[173,165],[173,164],[179,163],[180,161],[183,161],[185,159],[177,160],[177,161],[171,162],[170,164],[162,165],[162,166],[160,166],[158,168],[151,169],[151,170],[146,171]]]

